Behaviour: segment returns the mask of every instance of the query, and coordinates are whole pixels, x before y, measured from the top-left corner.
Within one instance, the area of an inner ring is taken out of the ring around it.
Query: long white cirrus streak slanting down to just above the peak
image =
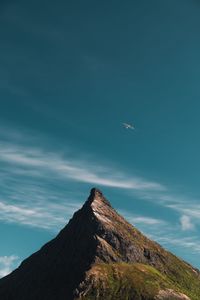
[[[12,149],[12,150],[11,150]],[[43,173],[54,174],[70,180],[108,187],[133,190],[164,190],[165,187],[139,177],[128,176],[117,170],[102,166],[91,167],[91,163],[74,162],[58,154],[44,153],[40,149],[23,147],[1,147],[0,160],[11,165],[34,168]],[[93,164],[92,164],[93,165]],[[116,175],[114,175],[116,174]]]

